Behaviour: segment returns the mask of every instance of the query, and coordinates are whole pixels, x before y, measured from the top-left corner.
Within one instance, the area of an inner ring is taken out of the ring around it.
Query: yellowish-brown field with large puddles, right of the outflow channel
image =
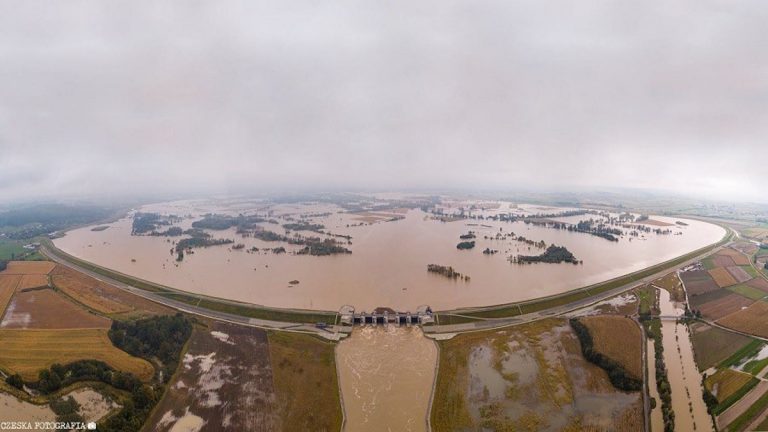
[[[439,344],[434,431],[642,429],[640,392],[616,390],[603,369],[584,359],[565,320]]]

